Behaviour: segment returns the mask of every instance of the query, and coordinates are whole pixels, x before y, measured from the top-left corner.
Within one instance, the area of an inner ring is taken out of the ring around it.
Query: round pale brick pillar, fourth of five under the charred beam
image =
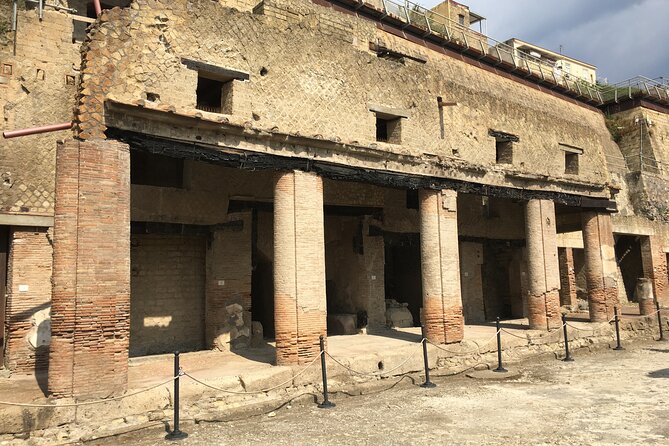
[[[527,237],[527,310],[530,328],[560,326],[560,272],[555,232],[555,205],[550,200],[530,200],[525,205]]]

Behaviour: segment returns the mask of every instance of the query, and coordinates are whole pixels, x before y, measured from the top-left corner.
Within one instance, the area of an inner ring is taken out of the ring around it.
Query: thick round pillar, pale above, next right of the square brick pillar
[[[304,364],[327,334],[323,181],[287,172],[274,188],[276,362]]]

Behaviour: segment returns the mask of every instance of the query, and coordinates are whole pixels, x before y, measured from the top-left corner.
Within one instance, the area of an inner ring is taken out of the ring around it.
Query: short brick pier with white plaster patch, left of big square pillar
[[[10,234],[5,361],[18,373],[49,365],[51,236],[44,228],[14,227]]]

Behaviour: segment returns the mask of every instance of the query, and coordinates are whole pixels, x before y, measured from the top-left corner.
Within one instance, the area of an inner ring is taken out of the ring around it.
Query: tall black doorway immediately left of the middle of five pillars
[[[423,307],[420,234],[385,232],[386,299],[408,304],[414,327],[420,327]]]

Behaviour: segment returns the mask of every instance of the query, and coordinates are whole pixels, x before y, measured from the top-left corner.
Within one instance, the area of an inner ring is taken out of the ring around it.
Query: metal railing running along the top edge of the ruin
[[[359,0],[362,1],[362,0]],[[507,65],[514,71],[535,76],[562,86],[579,96],[602,103],[601,88],[583,79],[562,73],[551,61],[541,59],[529,53],[515,49],[511,45],[469,29],[439,13],[426,9],[408,0],[376,0],[376,6],[382,7],[387,16],[392,16],[408,25],[425,30],[425,36],[437,34],[447,40],[480,53],[481,58],[492,57],[498,64]]]

